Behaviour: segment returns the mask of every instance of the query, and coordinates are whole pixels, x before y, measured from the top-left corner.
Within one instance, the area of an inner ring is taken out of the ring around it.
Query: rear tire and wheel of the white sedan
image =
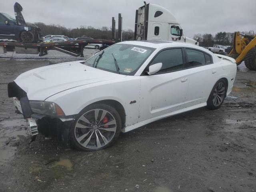
[[[210,96],[207,100],[207,108],[215,110],[220,108],[226,96],[227,85],[225,80],[220,79],[213,86]]]

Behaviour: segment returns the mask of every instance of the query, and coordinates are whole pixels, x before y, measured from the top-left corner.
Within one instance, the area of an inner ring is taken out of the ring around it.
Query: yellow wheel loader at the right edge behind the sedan
[[[236,60],[237,65],[244,61],[248,69],[256,71],[256,34],[253,31],[252,35],[235,32],[233,47],[229,47],[225,51],[228,56]]]

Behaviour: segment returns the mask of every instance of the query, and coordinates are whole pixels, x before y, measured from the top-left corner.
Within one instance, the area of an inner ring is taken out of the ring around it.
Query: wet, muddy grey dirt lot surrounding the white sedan
[[[61,62],[32,59],[0,58],[0,191],[256,191],[256,72],[243,63],[219,110],[186,112],[122,134],[111,148],[78,152],[42,135],[31,143],[15,113],[7,83]]]

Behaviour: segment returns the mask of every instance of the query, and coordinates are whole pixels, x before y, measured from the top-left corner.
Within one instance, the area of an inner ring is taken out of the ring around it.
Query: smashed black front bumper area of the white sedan
[[[15,82],[8,84],[8,96],[13,97],[14,105],[29,123],[32,136],[38,132],[46,136],[57,136],[63,144],[69,146],[69,132],[74,116],[53,117],[32,112],[26,92]]]

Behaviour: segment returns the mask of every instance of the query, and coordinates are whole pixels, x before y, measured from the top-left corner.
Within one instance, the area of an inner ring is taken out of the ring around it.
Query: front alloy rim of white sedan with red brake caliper
[[[114,116],[104,109],[90,110],[77,120],[74,134],[84,148],[98,149],[108,144],[116,133]]]

